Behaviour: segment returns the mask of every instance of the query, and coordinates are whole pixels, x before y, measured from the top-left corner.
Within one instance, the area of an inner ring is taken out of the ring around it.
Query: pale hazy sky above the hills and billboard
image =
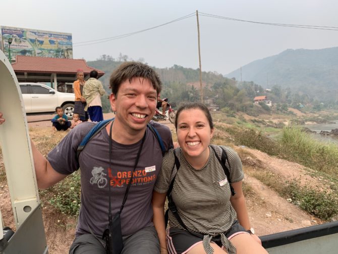
[[[121,39],[79,42],[128,34],[199,11],[203,71],[227,74],[288,48],[335,47],[338,31],[269,26],[248,21],[338,27],[336,0],[1,0],[0,25],[67,32],[73,56],[87,61],[120,53],[151,66],[198,68],[196,16]]]

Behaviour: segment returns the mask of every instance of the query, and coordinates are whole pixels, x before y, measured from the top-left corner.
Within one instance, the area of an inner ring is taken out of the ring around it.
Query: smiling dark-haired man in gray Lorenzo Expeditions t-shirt
[[[114,253],[159,253],[151,197],[162,150],[147,124],[155,113],[161,81],[149,66],[126,62],[111,74],[109,84],[115,120],[90,139],[78,160],[77,148],[94,123],[70,131],[47,160],[32,143],[37,183],[48,188],[81,168],[81,208],[70,253],[103,254],[106,247],[118,249]],[[173,147],[170,129],[150,124],[165,148]]]

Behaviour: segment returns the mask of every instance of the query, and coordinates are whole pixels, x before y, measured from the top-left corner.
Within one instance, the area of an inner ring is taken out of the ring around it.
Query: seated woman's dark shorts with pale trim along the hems
[[[230,240],[235,235],[242,234],[248,232],[240,225],[240,223],[236,220],[232,227],[225,233],[226,237]],[[199,237],[200,235],[200,237]],[[203,242],[203,235],[193,235],[186,230],[178,229],[178,228],[168,228],[166,230],[166,245],[168,248],[168,253],[177,253],[184,254],[195,247],[197,244]],[[211,242],[216,243],[219,247],[222,247],[222,243],[220,241],[220,236],[212,237]]]

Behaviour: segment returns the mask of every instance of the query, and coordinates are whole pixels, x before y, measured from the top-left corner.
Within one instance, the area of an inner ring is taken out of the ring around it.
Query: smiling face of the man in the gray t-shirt
[[[133,78],[120,85],[117,94],[110,95],[110,105],[116,111],[116,121],[131,132],[145,130],[152,119],[157,104],[157,92],[151,82]]]

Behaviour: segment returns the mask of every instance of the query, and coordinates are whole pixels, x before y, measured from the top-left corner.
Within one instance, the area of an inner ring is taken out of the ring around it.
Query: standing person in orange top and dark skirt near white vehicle
[[[83,70],[79,69],[76,71],[76,77],[78,80],[74,81],[73,87],[74,87],[74,93],[75,93],[75,108],[74,108],[74,114],[79,114],[80,120],[82,122],[88,121],[88,113],[84,110],[86,106],[86,99],[82,96],[83,94],[83,86],[84,86],[84,73]]]

